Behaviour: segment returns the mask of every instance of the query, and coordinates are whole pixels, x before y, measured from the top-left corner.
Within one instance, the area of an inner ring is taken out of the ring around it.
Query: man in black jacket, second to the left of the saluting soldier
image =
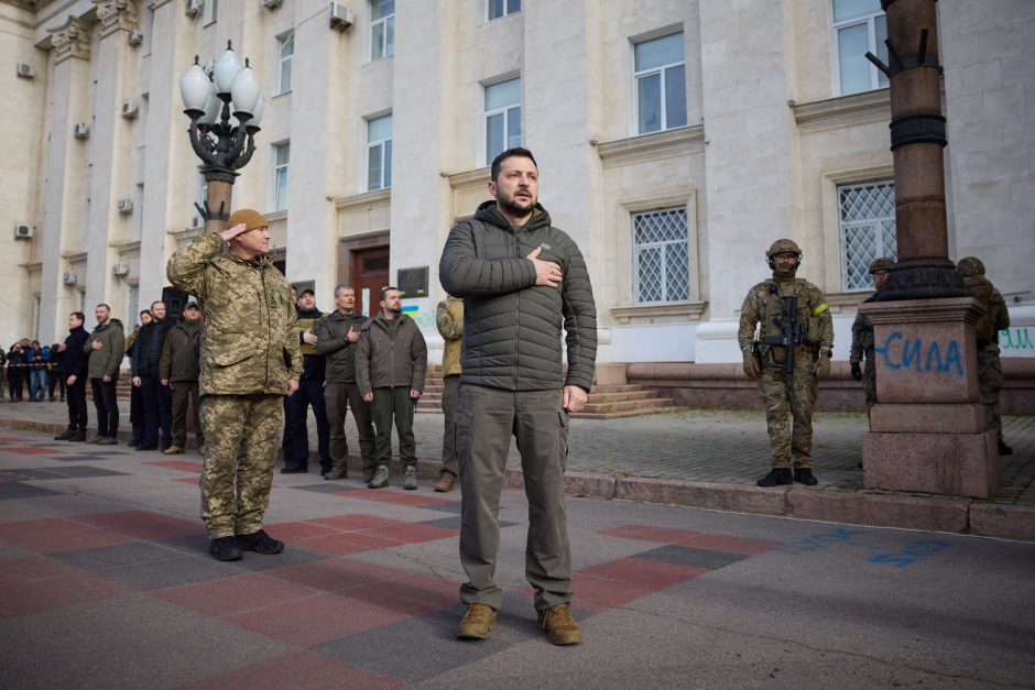
[[[140,397],[144,404],[143,438],[137,450],[159,448],[159,427],[162,429],[161,449],[165,450],[173,442],[172,397],[168,386],[162,384],[159,372],[162,348],[165,346],[170,327],[165,320],[165,303],[153,303],[151,316],[154,320],[140,327],[133,348],[133,385],[140,388]]]

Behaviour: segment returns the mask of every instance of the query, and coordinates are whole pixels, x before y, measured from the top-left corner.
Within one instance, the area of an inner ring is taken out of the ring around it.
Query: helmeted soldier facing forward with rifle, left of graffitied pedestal
[[[834,324],[822,292],[795,277],[802,250],[794,241],[776,240],[765,259],[773,277],[748,291],[738,336],[744,373],[759,381],[773,449],[773,468],[758,484],[776,486],[795,481],[811,486],[817,483],[813,474],[813,407],[818,380],[830,373]]]

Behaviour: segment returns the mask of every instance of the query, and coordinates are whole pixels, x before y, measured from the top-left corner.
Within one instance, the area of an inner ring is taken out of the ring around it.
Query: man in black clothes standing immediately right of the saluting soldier
[[[316,308],[316,294],[304,289],[295,305],[298,317],[298,344],[302,348],[302,379],[298,390],[284,399],[284,469],[281,474],[305,473],[309,470],[309,430],[306,417],[309,406],[316,417],[316,448],[320,474],[331,470],[330,426],[324,404],[325,358],[317,351],[316,322],[324,313]]]

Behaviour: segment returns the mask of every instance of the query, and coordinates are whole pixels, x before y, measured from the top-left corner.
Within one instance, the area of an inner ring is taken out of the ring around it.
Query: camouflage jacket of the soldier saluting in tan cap
[[[208,232],[173,254],[165,272],[205,314],[201,395],[287,392],[302,373],[302,352],[291,287],[269,256],[244,261]]]

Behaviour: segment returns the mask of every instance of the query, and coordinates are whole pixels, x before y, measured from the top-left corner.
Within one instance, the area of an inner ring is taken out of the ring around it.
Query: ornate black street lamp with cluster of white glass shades
[[[255,132],[262,118],[259,80],[248,59],[241,65],[227,41],[227,51],[207,73],[197,56],[179,79],[184,113],[190,118],[190,145],[201,158],[208,185],[205,208],[197,206],[208,232],[219,232],[230,218],[233,178],[255,152]]]

